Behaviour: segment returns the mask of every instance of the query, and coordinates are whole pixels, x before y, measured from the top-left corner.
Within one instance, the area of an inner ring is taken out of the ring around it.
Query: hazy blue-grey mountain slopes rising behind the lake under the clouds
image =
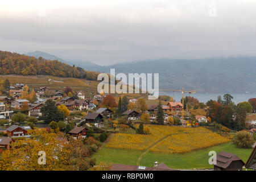
[[[40,51],[29,55],[57,59],[70,65],[97,72],[159,73],[162,89],[196,90],[201,93],[256,93],[256,57],[218,57],[213,59],[158,59],[101,66],[89,61],[60,59]]]

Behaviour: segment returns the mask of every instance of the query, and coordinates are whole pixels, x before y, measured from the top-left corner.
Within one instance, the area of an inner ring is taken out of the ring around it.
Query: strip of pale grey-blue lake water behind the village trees
[[[182,98],[181,93],[159,92],[159,94],[160,95],[172,96],[175,101],[180,101],[181,98]],[[217,100],[218,96],[221,96],[222,99],[223,99],[224,94],[223,93],[195,93],[195,94],[185,93],[184,97],[185,96],[191,96],[191,97],[197,98],[197,100],[199,100],[199,102],[207,102],[209,100]],[[243,102],[243,101],[248,101],[250,98],[256,98],[256,94],[235,94],[235,93],[231,93],[230,95],[232,95],[234,97],[233,102],[235,104],[238,104],[239,102]]]

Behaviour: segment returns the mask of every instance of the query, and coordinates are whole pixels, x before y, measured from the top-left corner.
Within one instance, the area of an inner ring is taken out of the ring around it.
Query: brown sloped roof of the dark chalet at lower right
[[[216,156],[217,163],[215,166],[221,167],[221,168],[227,168],[233,161],[241,160],[243,163],[242,159],[238,158],[237,155],[229,153],[229,152],[224,152],[221,151],[220,153],[217,154]],[[243,163],[244,165],[245,163]]]

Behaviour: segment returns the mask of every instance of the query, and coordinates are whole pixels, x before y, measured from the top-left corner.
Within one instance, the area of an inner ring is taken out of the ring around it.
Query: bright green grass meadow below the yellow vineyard
[[[119,164],[130,164],[137,165],[139,156],[142,155],[143,151],[138,150],[126,150],[109,148],[104,146],[96,152],[92,157],[96,158],[96,163],[119,163]],[[236,147],[232,142],[220,144],[205,148],[203,150],[196,150],[185,154],[163,154],[159,152],[148,152],[143,155],[140,161],[141,166],[153,166],[154,162],[163,162],[170,168],[175,169],[193,169],[193,168],[212,168],[213,166],[208,163],[209,151],[220,151],[232,152],[240,157],[243,162],[246,163],[253,149],[242,149]]]

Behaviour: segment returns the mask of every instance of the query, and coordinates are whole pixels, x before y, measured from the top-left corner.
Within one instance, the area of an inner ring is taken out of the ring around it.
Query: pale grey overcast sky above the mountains
[[[101,65],[256,56],[255,20],[255,0],[1,0],[0,50]]]

